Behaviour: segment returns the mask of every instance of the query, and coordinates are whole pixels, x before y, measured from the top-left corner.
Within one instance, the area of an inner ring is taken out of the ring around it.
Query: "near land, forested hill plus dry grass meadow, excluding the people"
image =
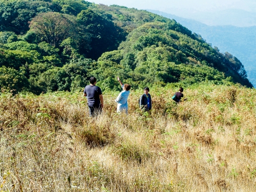
[[[117,5],[0,0],[0,15],[1,192],[256,190],[256,92],[237,57]],[[91,76],[97,118],[81,92]],[[132,86],[127,116],[116,76]]]

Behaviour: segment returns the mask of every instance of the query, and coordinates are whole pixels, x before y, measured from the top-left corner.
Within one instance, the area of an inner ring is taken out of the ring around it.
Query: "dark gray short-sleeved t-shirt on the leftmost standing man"
[[[100,105],[99,95],[102,94],[101,89],[97,86],[86,86],[83,93],[87,94],[87,104],[89,106],[95,106],[96,108]]]

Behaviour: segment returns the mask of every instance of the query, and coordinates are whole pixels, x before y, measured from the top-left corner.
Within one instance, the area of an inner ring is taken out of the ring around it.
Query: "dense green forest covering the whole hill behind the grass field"
[[[133,89],[211,81],[252,87],[240,60],[173,19],[82,0],[0,0],[2,90],[74,91],[95,76]]]

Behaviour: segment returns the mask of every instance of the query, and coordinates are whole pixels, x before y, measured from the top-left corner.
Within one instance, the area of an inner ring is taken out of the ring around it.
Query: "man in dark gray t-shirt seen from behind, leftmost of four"
[[[103,108],[102,92],[98,86],[95,86],[96,82],[97,79],[95,77],[91,77],[90,85],[86,86],[83,91],[83,96],[87,96],[90,117],[100,114]]]

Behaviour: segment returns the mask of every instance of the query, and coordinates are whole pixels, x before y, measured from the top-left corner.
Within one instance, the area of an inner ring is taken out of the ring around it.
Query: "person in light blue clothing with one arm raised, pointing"
[[[130,86],[130,84],[123,84],[119,77],[117,77],[117,80],[121,84],[123,91],[121,91],[119,93],[119,95],[117,96],[117,98],[115,100],[117,102],[117,110],[116,111],[117,111],[117,113],[125,112],[126,114],[128,114],[127,99],[130,94],[131,86]]]

